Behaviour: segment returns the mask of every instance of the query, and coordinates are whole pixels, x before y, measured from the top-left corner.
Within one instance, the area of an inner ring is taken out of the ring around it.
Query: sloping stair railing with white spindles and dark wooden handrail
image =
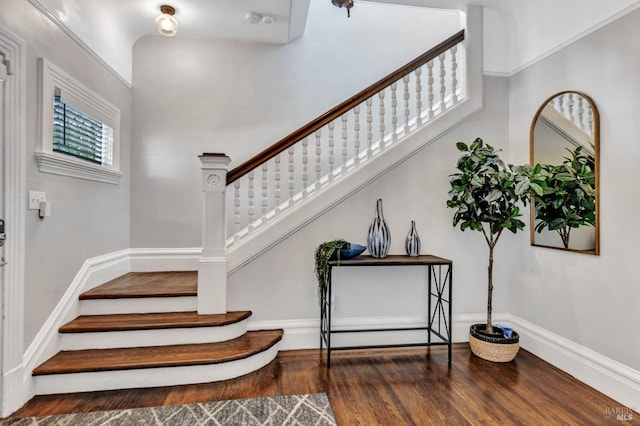
[[[460,31],[230,171],[227,248],[461,103],[463,41]]]

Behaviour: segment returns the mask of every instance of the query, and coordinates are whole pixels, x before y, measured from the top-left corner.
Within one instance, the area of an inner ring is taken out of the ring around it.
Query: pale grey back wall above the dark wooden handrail
[[[286,45],[145,37],[134,48],[133,247],[201,245],[200,163],[232,167],[457,32],[457,12],[311,2]]]

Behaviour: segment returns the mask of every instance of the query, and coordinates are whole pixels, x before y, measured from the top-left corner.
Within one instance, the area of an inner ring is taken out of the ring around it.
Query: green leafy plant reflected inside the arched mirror
[[[560,235],[569,248],[571,230],[596,223],[596,175],[593,155],[583,147],[567,149],[560,165],[536,164],[529,176],[534,200],[535,230]]]

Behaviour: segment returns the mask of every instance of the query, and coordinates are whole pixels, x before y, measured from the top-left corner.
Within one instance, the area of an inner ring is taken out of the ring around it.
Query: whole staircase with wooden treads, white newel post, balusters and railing
[[[198,272],[128,273],[77,310],[65,302],[32,351],[30,392],[206,383],[271,362],[284,331],[247,331],[251,312],[226,310],[228,275],[482,108],[481,9],[466,16],[465,31],[235,169],[203,154]]]

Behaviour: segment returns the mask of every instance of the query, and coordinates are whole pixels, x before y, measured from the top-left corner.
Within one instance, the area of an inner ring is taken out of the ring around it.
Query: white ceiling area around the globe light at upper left
[[[155,18],[163,4],[176,9],[175,18],[180,24],[176,36],[179,37],[284,44],[304,33],[309,1],[29,0],[67,34],[89,47],[129,84],[133,45],[141,37],[159,36]],[[273,22],[252,24],[246,18],[249,13],[268,15]]]

